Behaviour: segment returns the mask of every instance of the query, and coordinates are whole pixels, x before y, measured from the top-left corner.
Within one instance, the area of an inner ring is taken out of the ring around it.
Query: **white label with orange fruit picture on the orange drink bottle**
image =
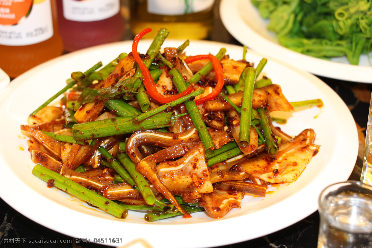
[[[0,45],[32,45],[52,36],[50,0],[0,0]]]

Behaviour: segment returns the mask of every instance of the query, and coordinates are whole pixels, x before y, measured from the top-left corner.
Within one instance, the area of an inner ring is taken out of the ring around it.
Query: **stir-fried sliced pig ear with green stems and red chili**
[[[225,48],[189,56],[189,41],[161,48],[169,31],[160,29],[139,54],[150,31],[108,65],[73,72],[31,113],[21,130],[34,175],[118,218],[129,209],[147,221],[221,218],[245,195],[265,197],[270,184],[301,175],[320,148],[315,132],[289,136],[270,113],[321,100],[288,102],[262,73],[267,60],[255,66],[245,48],[241,60]]]

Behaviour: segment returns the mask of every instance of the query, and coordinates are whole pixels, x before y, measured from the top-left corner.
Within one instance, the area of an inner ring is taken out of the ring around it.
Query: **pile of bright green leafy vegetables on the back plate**
[[[372,44],[369,0],[251,0],[281,45],[312,57],[359,64]]]

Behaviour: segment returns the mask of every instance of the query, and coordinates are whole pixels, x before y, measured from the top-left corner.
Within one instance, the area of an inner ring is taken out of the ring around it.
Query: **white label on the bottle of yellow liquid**
[[[214,0],[147,0],[147,11],[156,15],[185,15],[208,9]]]

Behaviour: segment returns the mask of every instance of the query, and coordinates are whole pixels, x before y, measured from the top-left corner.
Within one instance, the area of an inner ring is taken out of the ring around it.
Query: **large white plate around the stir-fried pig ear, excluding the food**
[[[177,47],[183,41],[166,41],[163,47]],[[138,50],[147,51],[150,41],[141,41]],[[227,48],[231,58],[241,59],[240,46],[191,41],[187,55],[217,54]],[[77,238],[108,238],[108,245],[123,245],[143,239],[154,248],[215,247],[257,238],[292,225],[317,210],[317,198],[328,184],[346,180],[356,161],[358,139],[355,122],[344,102],[314,75],[267,62],[264,73],[282,87],[289,101],[323,99],[324,107],[295,112],[283,131],[297,135],[313,128],[319,153],[304,173],[292,184],[270,189],[265,198],[243,199],[241,209],[233,209],[224,218],[212,219],[195,213],[190,219],[171,218],[148,223],[143,213],[129,212],[123,220],[92,209],[84,202],[31,174],[34,164],[27,151],[26,137],[20,125],[28,115],[65,86],[73,71],[85,71],[98,61],[107,64],[121,52],[130,52],[131,42],[119,42],[88,48],[53,59],[19,76],[0,92],[0,196],[28,218],[57,232]],[[248,51],[247,60],[262,59]],[[1,100],[2,99],[2,100]],[[109,238],[122,238],[113,244]]]

